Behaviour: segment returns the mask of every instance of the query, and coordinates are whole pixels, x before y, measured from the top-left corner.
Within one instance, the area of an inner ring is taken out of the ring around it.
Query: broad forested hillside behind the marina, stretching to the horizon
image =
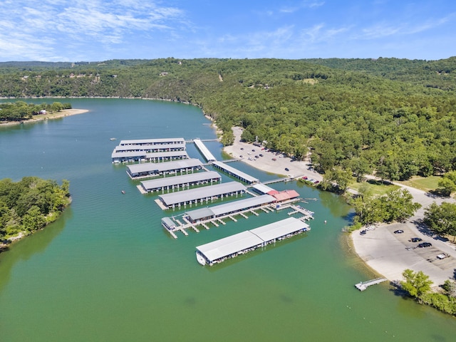
[[[456,168],[456,58],[440,61],[164,58],[0,65],[0,96],[118,96],[189,102],[224,130],[320,170],[390,180]]]

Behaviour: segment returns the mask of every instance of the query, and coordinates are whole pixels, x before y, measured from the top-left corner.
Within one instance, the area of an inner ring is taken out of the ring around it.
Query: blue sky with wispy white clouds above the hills
[[[454,0],[1,0],[0,61],[456,56]]]

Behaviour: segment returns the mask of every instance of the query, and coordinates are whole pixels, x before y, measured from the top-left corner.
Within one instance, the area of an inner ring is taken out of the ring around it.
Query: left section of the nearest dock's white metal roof
[[[204,257],[206,257],[209,261],[214,261],[222,257],[227,257],[229,254],[233,254],[262,243],[263,240],[247,230],[245,232],[231,235],[230,237],[225,237],[224,239],[209,242],[209,244],[203,244],[198,246],[197,250],[202,252]]]

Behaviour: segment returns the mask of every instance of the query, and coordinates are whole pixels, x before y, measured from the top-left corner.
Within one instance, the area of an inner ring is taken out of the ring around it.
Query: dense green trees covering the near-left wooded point
[[[0,180],[0,244],[20,232],[28,235],[57,219],[70,204],[70,184],[24,177]]]

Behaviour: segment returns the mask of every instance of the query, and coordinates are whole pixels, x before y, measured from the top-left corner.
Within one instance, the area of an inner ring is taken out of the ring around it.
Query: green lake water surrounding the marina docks
[[[454,341],[451,316],[396,296],[388,284],[354,288],[375,274],[341,233],[350,208],[310,187],[273,185],[309,199],[311,232],[200,266],[195,246],[286,212],[172,239],[160,218],[182,210],[162,212],[155,196],[140,195],[110,154],[120,139],[215,138],[201,111],[147,100],[70,102],[90,113],[0,128],[0,178],[68,179],[73,195],[58,222],[0,254],[0,341]],[[207,147],[222,158],[219,143]],[[187,150],[202,159],[194,146]]]

